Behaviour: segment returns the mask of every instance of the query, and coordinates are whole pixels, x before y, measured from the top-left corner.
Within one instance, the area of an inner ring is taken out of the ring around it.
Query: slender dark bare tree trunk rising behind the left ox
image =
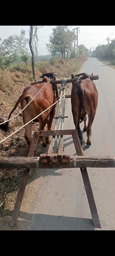
[[[32,53],[32,72],[33,72],[33,77],[36,80],[36,75],[35,75],[35,55],[32,47],[32,38],[33,38],[33,26],[30,26],[30,39],[29,39],[29,47],[30,51]]]

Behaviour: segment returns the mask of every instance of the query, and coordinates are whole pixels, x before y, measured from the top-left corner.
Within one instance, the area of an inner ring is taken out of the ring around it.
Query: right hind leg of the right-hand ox
[[[94,121],[96,115],[96,111],[91,111],[90,114],[88,115],[88,126],[87,126],[87,145],[91,146],[92,142],[91,142],[91,134],[92,134],[92,124]]]

